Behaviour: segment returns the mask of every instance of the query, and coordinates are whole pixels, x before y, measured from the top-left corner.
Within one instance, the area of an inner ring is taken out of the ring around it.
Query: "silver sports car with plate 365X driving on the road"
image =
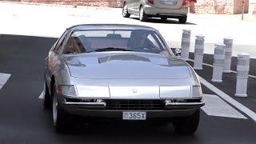
[[[58,131],[82,115],[172,122],[178,134],[194,134],[204,106],[197,74],[147,26],[68,28],[50,49],[44,78],[44,106]]]

